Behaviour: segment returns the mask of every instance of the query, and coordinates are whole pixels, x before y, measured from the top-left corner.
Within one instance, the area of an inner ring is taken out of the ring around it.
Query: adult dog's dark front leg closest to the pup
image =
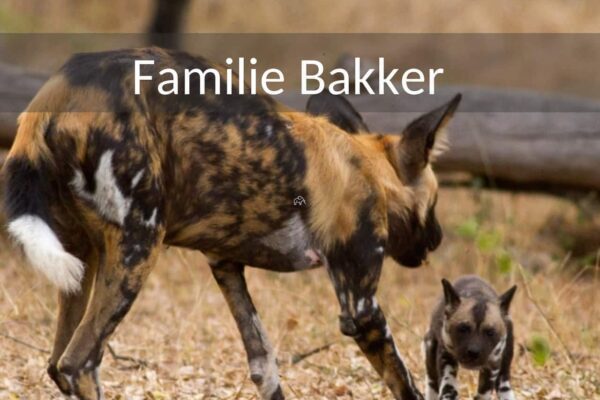
[[[340,330],[354,338],[396,399],[423,399],[375,298],[383,247],[368,239],[358,242],[327,257],[329,275],[341,307]]]

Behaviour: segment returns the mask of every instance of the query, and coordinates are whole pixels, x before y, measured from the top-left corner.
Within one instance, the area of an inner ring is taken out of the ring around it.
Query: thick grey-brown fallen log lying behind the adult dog
[[[12,143],[18,111],[44,80],[0,64],[0,147]],[[599,102],[476,87],[438,92],[435,97],[353,96],[350,101],[372,131],[398,132],[417,110],[431,109],[461,92],[460,112],[449,127],[450,150],[437,161],[438,171],[464,171],[541,189],[600,190]],[[279,100],[304,109],[307,97],[285,94]]]

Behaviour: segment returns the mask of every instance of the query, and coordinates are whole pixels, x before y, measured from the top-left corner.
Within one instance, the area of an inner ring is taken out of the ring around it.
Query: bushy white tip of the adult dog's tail
[[[29,263],[60,291],[73,293],[81,289],[83,262],[65,251],[43,219],[23,215],[8,224],[8,232],[23,246]]]

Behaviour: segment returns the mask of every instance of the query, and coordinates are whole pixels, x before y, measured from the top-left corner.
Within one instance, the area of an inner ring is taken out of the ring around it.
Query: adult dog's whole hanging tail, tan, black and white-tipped
[[[67,253],[52,230],[51,163],[41,113],[21,116],[19,131],[4,165],[4,205],[8,232],[23,247],[31,265],[63,292],[81,288],[84,266]]]

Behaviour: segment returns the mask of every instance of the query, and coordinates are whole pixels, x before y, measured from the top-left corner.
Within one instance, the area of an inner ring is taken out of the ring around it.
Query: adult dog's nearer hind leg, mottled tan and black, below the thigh
[[[139,253],[136,253],[136,261],[131,262],[132,254],[123,252],[126,233],[114,227],[106,228],[104,262],[98,267],[89,304],[58,362],[59,373],[69,382],[77,399],[102,398],[97,375],[104,346],[152,270],[163,234],[161,232],[157,243],[147,249],[147,256],[137,257]],[[141,245],[136,251],[140,249]]]

